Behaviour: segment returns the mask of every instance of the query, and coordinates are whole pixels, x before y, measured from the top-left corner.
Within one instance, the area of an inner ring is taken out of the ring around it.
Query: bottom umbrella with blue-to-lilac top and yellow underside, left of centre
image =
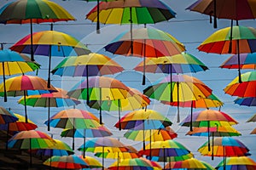
[[[117,139],[104,137],[104,138],[94,138],[87,140],[85,144],[79,147],[79,150],[90,151],[94,153],[105,153],[105,152],[122,152],[128,151],[129,148],[122,144]],[[102,169],[104,168],[104,156],[102,156]]]

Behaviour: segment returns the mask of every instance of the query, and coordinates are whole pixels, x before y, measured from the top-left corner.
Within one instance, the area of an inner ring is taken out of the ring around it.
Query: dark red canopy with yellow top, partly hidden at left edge
[[[9,122],[6,124],[0,124],[1,130],[5,130],[8,132],[9,131],[15,132],[15,131],[34,130],[34,129],[38,128],[38,126],[29,119],[27,119],[27,122],[26,122],[25,116],[21,116],[16,113],[14,115],[15,115],[15,117],[18,118],[18,120],[15,122]]]

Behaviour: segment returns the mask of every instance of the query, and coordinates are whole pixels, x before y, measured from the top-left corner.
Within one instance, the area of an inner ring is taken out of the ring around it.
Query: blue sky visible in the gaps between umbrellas
[[[2,7],[5,3],[9,3],[10,1],[0,1],[0,7]],[[86,44],[88,48],[92,52],[106,54],[108,57],[115,60],[119,65],[122,65],[125,68],[125,71],[113,75],[112,77],[118,79],[121,82],[124,82],[125,85],[131,88],[137,88],[143,91],[144,88],[147,88],[152,82],[156,81],[160,77],[164,77],[164,74],[151,74],[147,73],[147,83],[146,85],[141,85],[142,73],[133,71],[132,69],[142,61],[140,58],[136,57],[124,57],[120,55],[113,55],[106,52],[103,47],[111,42],[116,36],[119,35],[122,31],[126,31],[130,29],[129,25],[119,26],[119,25],[101,25],[101,34],[96,34],[96,24],[91,23],[90,20],[85,20],[85,15],[93,8],[96,3],[86,3],[84,1],[79,0],[53,0],[53,2],[60,4],[63,8],[66,8],[67,11],[72,14],[77,20],[76,21],[68,21],[68,22],[57,22],[54,24],[55,31],[65,32],[73,37],[76,37],[81,42]],[[178,41],[183,42],[186,47],[186,52],[189,54],[195,55],[198,59],[200,59],[209,70],[191,73],[189,76],[196,77],[200,79],[202,82],[206,83],[209,88],[212,88],[213,94],[216,94],[219,99],[224,102],[224,106],[221,108],[221,111],[229,114],[233,118],[239,122],[238,125],[234,126],[236,130],[240,131],[242,136],[237,137],[236,139],[241,140],[250,150],[252,154],[252,158],[256,160],[256,146],[253,144],[253,139],[255,136],[249,134],[254,127],[256,127],[255,123],[249,122],[247,123],[247,119],[249,119],[253,114],[255,114],[255,108],[235,105],[233,102],[236,97],[231,97],[228,94],[224,94],[224,88],[226,85],[231,82],[236,76],[236,70],[228,70],[228,69],[220,69],[218,68],[225,59],[228,59],[230,55],[220,55],[220,54],[206,54],[204,52],[198,51],[196,49],[201,42],[203,42],[207,37],[209,37],[214,31],[222,29],[224,27],[230,26],[230,20],[218,20],[218,28],[214,29],[212,24],[209,23],[209,16],[204,14],[199,14],[196,12],[192,12],[186,10],[185,8],[189,7],[190,4],[195,1],[189,0],[164,0],[164,2],[171,7],[176,13],[177,16],[175,19],[169,20],[168,22],[160,22],[154,25],[147,25],[147,27],[153,27],[160,29],[161,31],[166,31],[170,33],[173,37],[176,37]],[[252,26],[255,27],[254,20],[241,20],[239,22],[240,26]],[[143,26],[134,26],[134,28],[139,28]],[[0,25],[1,32],[1,40],[0,42],[6,43],[4,48],[9,48],[15,42],[20,40],[22,37],[25,37],[30,33],[29,25]],[[49,24],[40,24],[33,25],[34,31],[47,31],[49,30]],[[36,61],[41,64],[41,70],[38,72],[39,77],[44,77],[47,79],[47,68],[48,68],[48,59],[46,56],[35,56]],[[53,65],[51,68],[53,69],[55,65],[61,62],[61,57],[53,57]],[[241,72],[246,72],[248,70],[242,70]],[[35,75],[34,73],[29,73],[31,75]],[[8,78],[8,77],[7,77]],[[52,76],[52,84],[58,88],[64,88],[66,90],[70,90],[76,82],[79,82],[80,78],[70,78],[70,77],[58,77]],[[1,78],[1,81],[3,79]],[[4,107],[11,108],[12,111],[20,113],[24,115],[24,106],[17,104],[17,100],[19,98],[9,98],[8,103],[3,102],[3,98],[0,98],[0,103]],[[84,109],[95,113],[98,116],[98,111],[90,109],[85,104],[79,105],[77,108]],[[47,127],[44,125],[44,121],[47,120],[47,109],[44,108],[32,108],[30,106],[28,109],[28,117],[38,124],[38,129],[42,130],[46,133],[53,134],[54,139],[61,139],[58,135],[61,131],[59,129],[51,128],[50,132],[47,132]],[[63,109],[69,108],[52,108],[51,116],[61,111]],[[195,158],[198,158],[203,161],[207,161],[212,166],[216,166],[221,158],[216,158],[214,161],[211,160],[211,157],[201,156],[197,149],[204,144],[207,139],[201,137],[190,137],[185,136],[185,133],[189,131],[189,127],[180,127],[177,124],[177,108],[169,107],[167,105],[162,105],[158,101],[152,99],[151,105],[148,106],[148,109],[153,109],[155,111],[159,111],[163,115],[167,116],[172,122],[172,128],[177,132],[178,137],[177,140],[184,146],[186,146],[190,151],[195,154]],[[213,110],[218,110],[218,108],[212,108]],[[181,108],[181,120],[185,118],[190,109],[189,108]],[[200,109],[194,111],[202,111]],[[124,111],[121,113],[124,116],[129,111]],[[117,122],[117,112],[103,112],[103,122],[105,122],[105,126],[108,127],[113,133],[114,136],[118,138],[121,142],[125,144],[134,144],[134,146],[140,150],[142,148],[141,143],[133,142],[130,139],[125,139],[123,137],[123,131],[119,132],[118,129],[113,127],[113,124]],[[108,120],[108,121],[107,121]],[[67,141],[68,144],[71,143],[71,139],[63,139]],[[80,139],[76,140],[76,148],[83,144],[83,141]],[[79,154],[78,151],[76,153]],[[107,160],[108,164],[113,162],[113,160]]]

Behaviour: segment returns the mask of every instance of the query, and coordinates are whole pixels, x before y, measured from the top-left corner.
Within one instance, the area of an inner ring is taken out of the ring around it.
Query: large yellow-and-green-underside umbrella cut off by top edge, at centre
[[[103,24],[154,24],[170,20],[175,17],[175,12],[165,3],[154,0],[148,3],[145,0],[137,1],[112,1],[97,3],[92,8],[86,19]],[[97,29],[98,30],[98,29]],[[132,38],[131,38],[132,39]]]

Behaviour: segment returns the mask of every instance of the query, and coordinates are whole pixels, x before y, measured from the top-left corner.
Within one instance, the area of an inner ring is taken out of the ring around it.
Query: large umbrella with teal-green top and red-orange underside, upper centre
[[[142,57],[143,85],[145,84],[146,58],[172,56],[185,50],[183,44],[175,37],[153,28],[125,31],[110,42],[105,49],[113,54]]]

